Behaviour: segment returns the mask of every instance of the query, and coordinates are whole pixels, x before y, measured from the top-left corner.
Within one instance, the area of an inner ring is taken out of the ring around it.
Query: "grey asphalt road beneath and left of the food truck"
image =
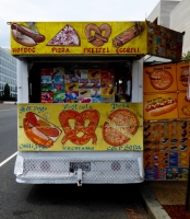
[[[142,209],[136,185],[16,183],[15,157],[1,165],[16,138],[16,105],[0,104],[0,219],[129,219],[127,208]]]

